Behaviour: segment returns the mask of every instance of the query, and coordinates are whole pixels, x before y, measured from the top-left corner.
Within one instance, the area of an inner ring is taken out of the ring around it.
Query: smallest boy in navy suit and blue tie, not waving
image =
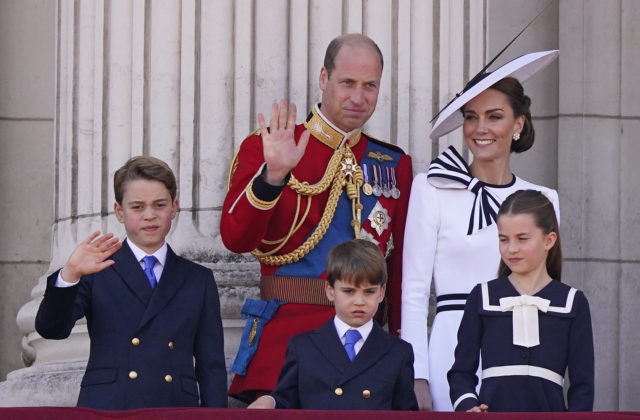
[[[289,341],[278,384],[249,408],[417,410],[411,345],[373,321],[386,281],[373,243],[334,247],[325,291],[336,316]]]

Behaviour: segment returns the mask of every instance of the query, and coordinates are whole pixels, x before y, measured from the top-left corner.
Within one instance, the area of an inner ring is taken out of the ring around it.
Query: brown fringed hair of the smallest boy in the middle
[[[376,245],[365,239],[352,239],[333,247],[327,258],[327,281],[352,282],[356,287],[367,281],[372,285],[387,282],[387,264]]]

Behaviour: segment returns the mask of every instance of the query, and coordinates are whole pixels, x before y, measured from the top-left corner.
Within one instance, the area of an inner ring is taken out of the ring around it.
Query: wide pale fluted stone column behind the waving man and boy
[[[385,57],[378,107],[365,129],[411,152],[415,170],[424,171],[439,149],[428,139],[431,116],[483,62],[485,15],[474,3],[59,0],[49,272],[92,231],[124,236],[113,214],[118,167],[139,154],[165,160],[180,200],[168,241],[214,271],[230,364],[240,308],[257,296],[259,273],[252,257],[224,248],[218,226],[230,162],[257,128],[256,114],[284,97],[302,121],[320,99],[329,41],[365,33]],[[460,133],[446,142],[461,144]],[[18,314],[30,367],[0,384],[2,404],[75,404],[86,325],[79,321],[67,340],[43,340],[34,319],[44,288],[43,276]]]

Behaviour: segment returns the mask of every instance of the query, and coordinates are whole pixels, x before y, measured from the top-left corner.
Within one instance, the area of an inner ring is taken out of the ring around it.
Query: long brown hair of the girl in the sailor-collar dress
[[[560,245],[560,232],[558,231],[558,219],[553,204],[544,194],[535,190],[516,191],[507,197],[498,210],[498,218],[503,215],[530,214],[534,223],[545,234],[555,232],[556,243],[547,254],[547,273],[552,279],[561,281],[562,275],[562,246]],[[504,261],[500,260],[498,277],[511,274],[511,270]]]

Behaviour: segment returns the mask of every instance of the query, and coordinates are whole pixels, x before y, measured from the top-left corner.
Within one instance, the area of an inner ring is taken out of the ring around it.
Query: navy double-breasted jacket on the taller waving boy
[[[78,405],[226,407],[220,301],[211,270],[169,248],[153,290],[126,241],[112,259],[111,267],[69,288],[55,287],[57,272],[49,276],[36,316],[36,331],[53,339],[68,337],[76,320],[87,318],[91,349]]]

